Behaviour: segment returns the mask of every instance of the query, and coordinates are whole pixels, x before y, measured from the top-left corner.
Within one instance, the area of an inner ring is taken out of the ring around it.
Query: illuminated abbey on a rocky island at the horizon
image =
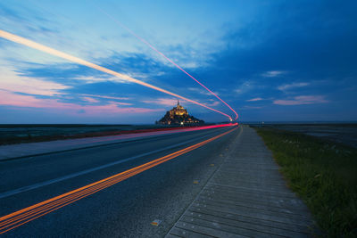
[[[186,109],[184,109],[178,100],[178,105],[171,109],[170,111],[166,111],[165,116],[159,121],[156,121],[156,124],[161,125],[199,125],[203,124],[204,121],[202,119],[196,119],[193,116],[190,116]]]

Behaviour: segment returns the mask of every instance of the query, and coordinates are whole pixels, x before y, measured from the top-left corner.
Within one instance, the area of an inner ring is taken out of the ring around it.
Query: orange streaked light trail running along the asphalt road
[[[234,125],[237,125],[237,124],[234,124]],[[45,216],[46,214],[48,214],[56,209],[61,209],[62,207],[67,206],[75,201],[79,201],[80,199],[85,198],[93,193],[97,193],[106,187],[115,185],[125,179],[128,179],[131,176],[140,174],[147,169],[154,168],[155,166],[158,166],[168,160],[172,160],[182,154],[191,152],[191,151],[203,146],[204,144],[208,144],[208,143],[220,138],[223,135],[227,135],[227,134],[233,132],[237,128],[238,127],[234,127],[233,129],[230,129],[227,132],[224,132],[220,135],[216,135],[216,136],[214,136],[208,140],[205,140],[203,142],[200,142],[198,144],[188,146],[187,148],[179,150],[178,152],[170,153],[170,154],[165,155],[159,159],[152,160],[150,162],[147,162],[147,163],[137,166],[135,168],[130,168],[130,169],[128,169],[124,172],[121,172],[117,175],[109,176],[107,178],[99,180],[99,181],[92,183],[90,185],[85,185],[78,189],[72,190],[71,192],[63,193],[63,194],[56,196],[54,198],[51,198],[49,200],[39,202],[39,203],[32,205],[28,208],[12,212],[11,214],[6,215],[4,217],[0,217],[0,234],[4,234],[18,226],[22,226],[22,225],[28,223],[29,221],[32,221],[38,217]]]

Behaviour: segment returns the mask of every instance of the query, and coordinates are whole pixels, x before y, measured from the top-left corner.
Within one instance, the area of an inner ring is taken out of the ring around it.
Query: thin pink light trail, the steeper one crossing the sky
[[[182,72],[184,72],[185,74],[187,74],[187,76],[189,78],[192,78],[195,80],[196,83],[198,83],[200,86],[203,86],[204,89],[206,89],[208,92],[210,92],[212,95],[214,95],[215,97],[217,97],[220,102],[224,103],[226,106],[228,106],[228,108],[233,111],[233,113],[235,113],[236,118],[235,120],[238,119],[238,114],[237,111],[235,111],[233,108],[231,108],[228,103],[224,102],[223,99],[220,98],[219,95],[213,93],[207,86],[204,86],[200,81],[198,81],[195,77],[193,77],[192,75],[190,75],[189,73],[187,73],[186,70],[182,69],[176,62],[173,62],[169,57],[167,57],[165,54],[163,54],[162,52],[160,52],[158,49],[156,49],[153,45],[151,45],[150,43],[148,43],[144,38],[137,36],[137,34],[135,34],[134,31],[132,31],[131,29],[127,28],[124,24],[122,24],[120,21],[116,20],[115,18],[112,17],[112,15],[110,15],[109,13],[105,12],[102,8],[96,6],[101,12],[103,12],[105,15],[107,15],[110,19],[112,19],[112,21],[114,21],[115,23],[117,23],[121,28],[126,29],[132,36],[136,37],[138,40],[140,40],[141,42],[143,42],[145,45],[149,46],[150,48],[152,48],[156,53],[159,53],[160,55],[162,55],[163,58],[165,58],[168,62],[172,63],[174,66],[176,66],[176,68],[178,68],[179,70],[181,70]]]

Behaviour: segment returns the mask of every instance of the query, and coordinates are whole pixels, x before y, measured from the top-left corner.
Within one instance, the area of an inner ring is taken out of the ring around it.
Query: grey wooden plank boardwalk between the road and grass
[[[262,139],[243,127],[220,168],[166,237],[308,237],[314,227]]]

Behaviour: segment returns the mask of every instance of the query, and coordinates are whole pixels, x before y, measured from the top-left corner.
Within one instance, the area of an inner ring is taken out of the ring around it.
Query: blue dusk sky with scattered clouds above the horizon
[[[0,29],[202,103],[207,122],[357,121],[356,1],[3,0]],[[123,27],[124,26],[124,27]],[[129,29],[129,30],[128,30]],[[0,123],[152,124],[177,97],[0,37]]]

